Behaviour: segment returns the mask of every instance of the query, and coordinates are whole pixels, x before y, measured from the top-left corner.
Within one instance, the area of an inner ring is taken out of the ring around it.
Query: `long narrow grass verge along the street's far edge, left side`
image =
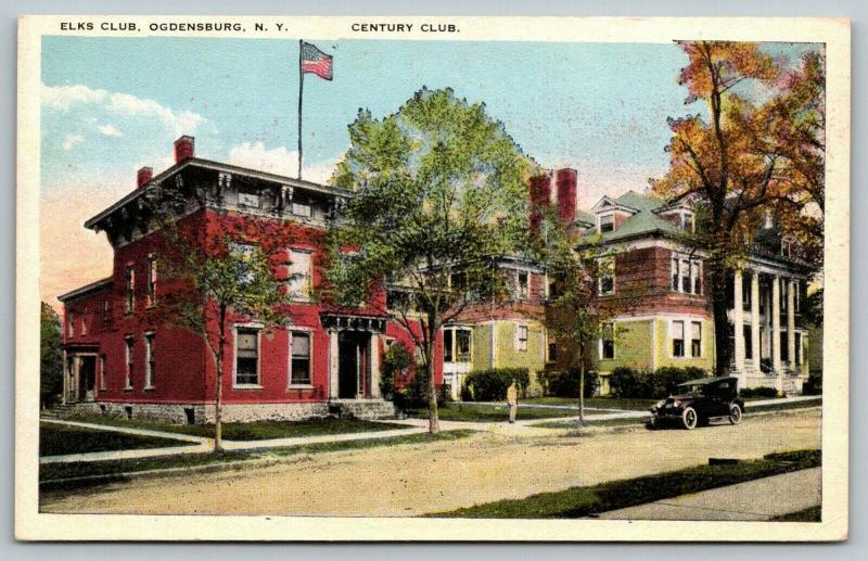
[[[112,476],[110,481],[119,481],[124,473],[135,473],[151,470],[165,470],[171,468],[193,468],[202,466],[213,466],[215,469],[226,469],[226,464],[257,459],[275,458],[279,459],[286,456],[301,454],[321,454],[337,450],[354,450],[361,448],[375,448],[379,446],[397,446],[400,444],[425,444],[432,442],[456,441],[465,438],[474,431],[443,431],[435,435],[427,433],[407,434],[403,436],[392,436],[388,438],[374,438],[370,441],[349,441],[336,443],[306,444],[285,448],[270,448],[267,450],[238,450],[224,451],[218,454],[187,454],[178,456],[164,456],[159,458],[140,458],[130,460],[110,460],[93,462],[71,462],[71,463],[49,463],[39,467],[40,488],[61,488],[72,489],[95,484],[105,483],[106,480],[92,481],[66,481],[75,477]],[[240,464],[242,468],[245,464]],[[56,481],[56,483],[52,483]]]

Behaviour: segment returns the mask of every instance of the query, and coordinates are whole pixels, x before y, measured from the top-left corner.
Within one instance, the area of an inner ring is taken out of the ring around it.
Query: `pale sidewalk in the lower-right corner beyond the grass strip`
[[[647,505],[603,512],[603,520],[762,521],[822,501],[821,468],[793,471]]]

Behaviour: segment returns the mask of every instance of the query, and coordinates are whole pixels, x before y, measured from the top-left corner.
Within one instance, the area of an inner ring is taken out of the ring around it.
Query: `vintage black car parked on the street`
[[[688,431],[707,424],[711,419],[741,422],[744,401],[736,392],[738,378],[700,378],[678,384],[678,395],[661,399],[651,407],[649,429],[664,424],[681,425]]]

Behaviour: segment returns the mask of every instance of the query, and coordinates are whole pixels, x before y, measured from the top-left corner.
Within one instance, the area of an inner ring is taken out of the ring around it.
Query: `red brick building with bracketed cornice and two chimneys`
[[[150,168],[139,170],[135,191],[85,224],[106,233],[114,264],[110,278],[60,296],[64,403],[114,416],[213,419],[217,377],[204,340],[154,313],[170,280],[161,277],[161,232],[144,197],[158,197],[163,186],[173,186],[186,201],[178,220],[205,238],[221,221],[245,217],[291,227],[292,242],[278,268],[292,279],[286,281],[294,294],[291,324],[272,330],[233,323],[222,377],[224,419],[293,419],[339,410],[394,415],[380,395],[382,355],[394,342],[410,348],[412,343],[388,321],[385,293],[352,309],[310,298],[322,282],[328,219],[352,193],[197,158],[191,137],[176,141],[175,155],[175,165],[155,177]],[[439,369],[435,380],[442,380]]]

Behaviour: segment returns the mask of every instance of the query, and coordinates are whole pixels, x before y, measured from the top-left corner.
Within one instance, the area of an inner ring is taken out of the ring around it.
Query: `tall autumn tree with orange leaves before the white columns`
[[[825,195],[825,60],[808,53],[801,65],[782,63],[756,43],[685,41],[679,84],[686,104],[702,113],[669,119],[669,170],[652,180],[672,203],[698,206],[693,242],[706,267],[715,327],[715,369],[731,357],[727,318],[728,272],[745,257],[768,213],[821,267]],[[764,100],[764,101],[757,101]]]

